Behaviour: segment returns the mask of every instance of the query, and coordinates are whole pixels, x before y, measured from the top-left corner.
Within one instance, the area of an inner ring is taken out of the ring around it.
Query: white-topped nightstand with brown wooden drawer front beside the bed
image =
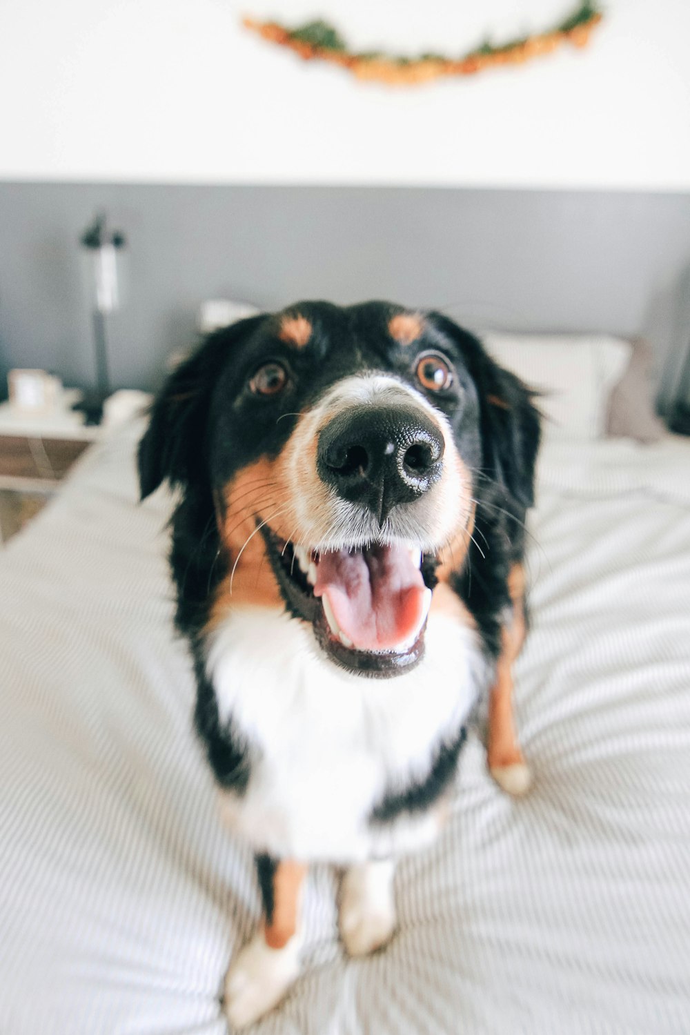
[[[57,492],[60,479],[100,434],[71,410],[80,398],[65,390],[50,413],[0,404],[0,542],[18,532]]]

